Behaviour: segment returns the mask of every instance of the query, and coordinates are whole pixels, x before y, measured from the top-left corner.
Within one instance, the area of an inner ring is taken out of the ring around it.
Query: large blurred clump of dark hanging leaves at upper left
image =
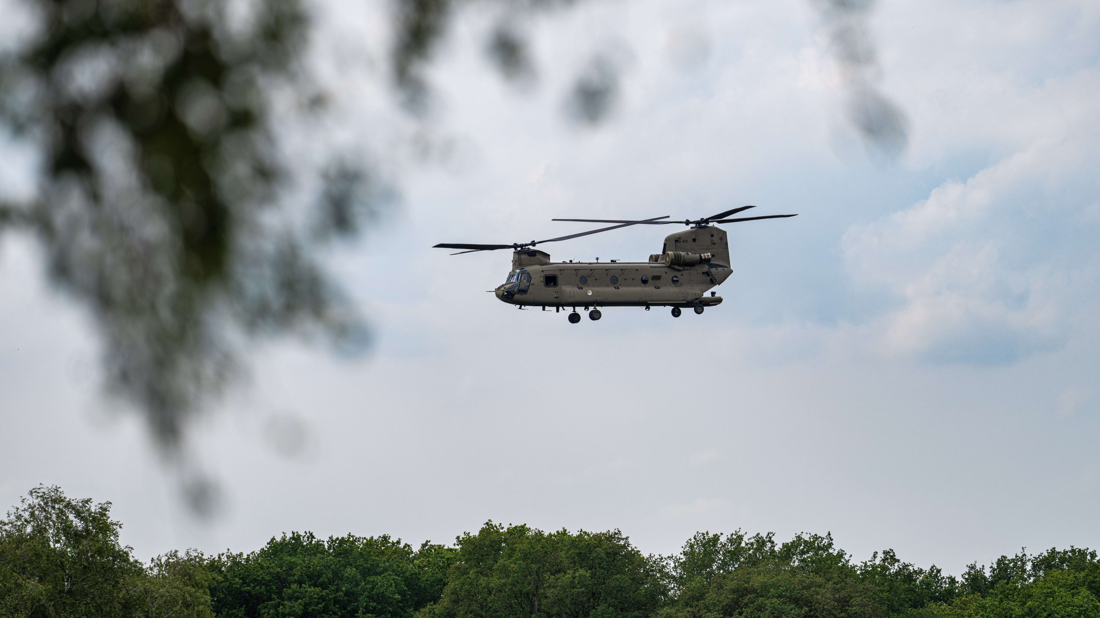
[[[42,156],[36,199],[0,222],[41,239],[53,280],[90,308],[109,387],[178,454],[185,423],[234,376],[241,332],[316,330],[362,343],[314,258],[353,232],[364,173],[330,172],[297,231],[272,99],[301,84],[294,0],[37,0],[0,57],[0,119]],[[362,209],[358,209],[362,210]],[[185,479],[209,508],[201,478]]]

